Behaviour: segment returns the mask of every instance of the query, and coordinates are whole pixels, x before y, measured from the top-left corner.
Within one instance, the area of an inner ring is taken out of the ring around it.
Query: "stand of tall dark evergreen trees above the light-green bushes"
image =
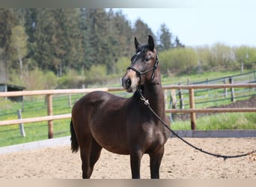
[[[165,49],[182,46],[178,39],[171,43],[166,25],[161,31]],[[121,10],[1,8],[0,82],[8,81],[8,72],[24,72],[25,77],[31,70],[50,70],[62,76],[70,70],[88,73],[92,67],[106,75],[117,73],[120,58],[134,52],[133,37],[146,43],[148,34],[155,37],[141,19],[132,28]]]

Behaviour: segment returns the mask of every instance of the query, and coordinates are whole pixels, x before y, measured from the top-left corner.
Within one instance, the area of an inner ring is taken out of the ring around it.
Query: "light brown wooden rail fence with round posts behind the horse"
[[[189,90],[189,109],[166,109],[166,113],[190,113],[191,127],[196,128],[195,113],[216,113],[216,112],[255,112],[255,108],[195,108],[195,89],[213,89],[213,88],[256,88],[255,83],[249,84],[230,84],[230,85],[168,85],[162,87],[164,90]],[[95,88],[95,89],[67,89],[67,90],[44,90],[44,91],[13,91],[2,92],[0,97],[10,96],[35,96],[46,95],[48,116],[31,117],[18,120],[2,120],[0,126],[13,125],[19,123],[32,123],[38,121],[48,121],[48,137],[53,138],[53,120],[70,118],[71,114],[53,115],[52,111],[52,95],[55,94],[74,94],[74,93],[90,93],[91,91],[124,91],[123,88]]]

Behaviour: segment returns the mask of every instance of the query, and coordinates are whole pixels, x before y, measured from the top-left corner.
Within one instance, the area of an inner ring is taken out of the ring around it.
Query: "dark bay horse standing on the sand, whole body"
[[[170,132],[141,101],[137,88],[166,123],[159,61],[153,37],[141,45],[135,37],[135,55],[122,84],[134,92],[126,99],[103,91],[88,93],[73,106],[70,123],[71,149],[80,147],[82,177],[90,178],[102,148],[130,156],[132,178],[140,178],[141,157],[150,156],[150,177],[159,178],[164,145]],[[109,168],[111,169],[111,168]]]

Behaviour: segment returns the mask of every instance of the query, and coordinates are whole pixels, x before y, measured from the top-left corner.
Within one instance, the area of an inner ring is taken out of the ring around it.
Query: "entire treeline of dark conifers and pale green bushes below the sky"
[[[155,34],[141,19],[101,8],[0,8],[0,82],[27,89],[79,88],[117,80],[151,34],[162,73],[255,68],[250,46],[187,47],[165,23]],[[185,43],[186,44],[186,43]]]

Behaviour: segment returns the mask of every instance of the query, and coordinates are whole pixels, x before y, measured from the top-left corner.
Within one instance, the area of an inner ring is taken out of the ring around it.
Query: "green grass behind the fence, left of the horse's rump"
[[[79,99],[82,94],[72,96],[72,104]],[[30,98],[31,99],[31,98]],[[68,105],[68,96],[53,96],[53,114],[67,114],[71,112]],[[17,119],[17,110],[22,109],[22,118],[41,117],[47,115],[47,105],[43,96],[37,96],[33,100],[25,98],[22,106],[21,102],[10,102],[1,99],[0,120]],[[70,135],[70,119],[54,120],[54,138]],[[0,147],[38,141],[48,138],[47,121],[37,123],[24,123],[25,137],[19,131],[19,125],[0,126]]]

